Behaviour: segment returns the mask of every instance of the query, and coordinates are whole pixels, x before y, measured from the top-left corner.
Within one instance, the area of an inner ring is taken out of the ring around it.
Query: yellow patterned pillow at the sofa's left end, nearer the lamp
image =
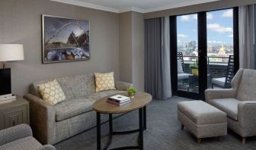
[[[56,105],[58,102],[62,102],[66,99],[64,92],[57,80],[53,80],[49,83],[37,85],[43,100],[49,105]]]

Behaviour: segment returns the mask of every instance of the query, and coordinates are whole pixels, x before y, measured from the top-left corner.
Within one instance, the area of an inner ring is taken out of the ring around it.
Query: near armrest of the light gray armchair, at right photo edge
[[[238,121],[242,127],[256,126],[256,101],[243,101],[238,104]]]

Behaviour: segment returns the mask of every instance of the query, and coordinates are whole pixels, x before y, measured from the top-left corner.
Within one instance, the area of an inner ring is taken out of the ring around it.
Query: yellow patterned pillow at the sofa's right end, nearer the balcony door
[[[114,72],[111,73],[94,73],[96,92],[116,89],[114,85]]]

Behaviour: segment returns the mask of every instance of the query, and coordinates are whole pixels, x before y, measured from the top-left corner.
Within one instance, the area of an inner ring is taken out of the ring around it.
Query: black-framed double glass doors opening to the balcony
[[[238,68],[237,8],[170,17],[174,95],[203,99],[207,88],[229,88]],[[219,86],[220,85],[220,86]]]

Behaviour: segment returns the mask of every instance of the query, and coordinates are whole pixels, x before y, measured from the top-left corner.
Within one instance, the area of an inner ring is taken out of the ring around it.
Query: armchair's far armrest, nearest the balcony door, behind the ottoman
[[[234,98],[235,89],[206,89],[204,94],[206,102],[210,102],[214,98]]]

